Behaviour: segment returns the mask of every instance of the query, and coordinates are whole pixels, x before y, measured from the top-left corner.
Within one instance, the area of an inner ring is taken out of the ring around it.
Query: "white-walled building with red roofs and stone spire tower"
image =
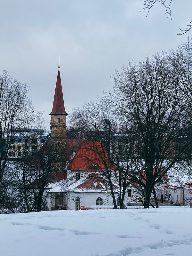
[[[60,66],[58,68],[60,69]],[[109,182],[103,176],[105,166],[101,161],[100,142],[66,139],[68,114],[64,106],[60,70],[57,75],[53,108],[49,115],[51,116],[50,143],[58,146],[62,143],[64,148],[61,152],[60,172],[52,177],[45,191],[48,193],[49,210],[112,207]],[[100,154],[97,154],[98,150]],[[107,151],[104,153],[107,155]],[[108,169],[111,171],[116,169],[109,159]],[[119,188],[113,186],[117,200]]]

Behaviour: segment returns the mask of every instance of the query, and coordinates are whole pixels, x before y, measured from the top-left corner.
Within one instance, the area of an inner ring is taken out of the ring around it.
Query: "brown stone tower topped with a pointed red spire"
[[[60,66],[58,66],[60,68]],[[51,116],[51,143],[53,148],[60,152],[60,171],[65,172],[66,167],[66,116],[63,92],[61,86],[60,71],[58,70],[55,96],[53,100]]]

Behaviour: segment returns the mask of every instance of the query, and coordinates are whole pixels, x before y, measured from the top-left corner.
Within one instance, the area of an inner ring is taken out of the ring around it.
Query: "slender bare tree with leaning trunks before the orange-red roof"
[[[92,141],[92,144],[87,144],[88,152],[93,152],[92,156],[90,153],[87,155],[87,161],[98,166],[98,170],[101,170],[100,174],[108,181],[114,208],[117,208],[117,202],[113,184],[119,187],[118,203],[120,208],[123,208],[127,186],[131,183],[128,171],[132,164],[131,149],[134,139],[131,140],[128,133],[125,135],[122,130],[125,124],[115,117],[113,110],[108,108],[108,101],[101,98],[95,103],[85,104],[82,109],[75,109],[70,116],[70,124],[86,134],[87,140]],[[115,134],[118,141],[122,140],[124,143],[116,142]],[[123,148],[120,149],[122,145]],[[83,157],[85,156],[84,153]]]

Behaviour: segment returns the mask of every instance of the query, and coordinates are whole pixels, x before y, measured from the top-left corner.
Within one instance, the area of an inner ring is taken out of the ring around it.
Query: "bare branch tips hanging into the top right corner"
[[[167,14],[167,18],[170,18],[171,20],[173,20],[172,10],[171,10],[172,0],[146,0],[143,2],[144,2],[144,8],[143,8],[142,12],[147,10],[147,16],[148,16],[148,13],[151,10],[151,8],[156,3],[159,3],[164,6],[164,10],[165,10],[165,14]],[[187,33],[191,28],[192,28],[192,21],[189,21],[189,22],[187,22],[185,29],[180,28],[181,33],[178,35],[183,35],[183,34]]]

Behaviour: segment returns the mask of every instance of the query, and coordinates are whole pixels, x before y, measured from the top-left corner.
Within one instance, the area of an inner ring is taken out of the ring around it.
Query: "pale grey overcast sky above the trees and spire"
[[[181,6],[182,4],[182,6]],[[178,36],[192,19],[192,1],[172,1],[172,17],[156,4],[148,17],[143,0],[9,0],[0,9],[0,72],[21,83],[50,126],[60,56],[65,109],[113,88],[116,68],[155,52],[175,49],[192,31]]]

